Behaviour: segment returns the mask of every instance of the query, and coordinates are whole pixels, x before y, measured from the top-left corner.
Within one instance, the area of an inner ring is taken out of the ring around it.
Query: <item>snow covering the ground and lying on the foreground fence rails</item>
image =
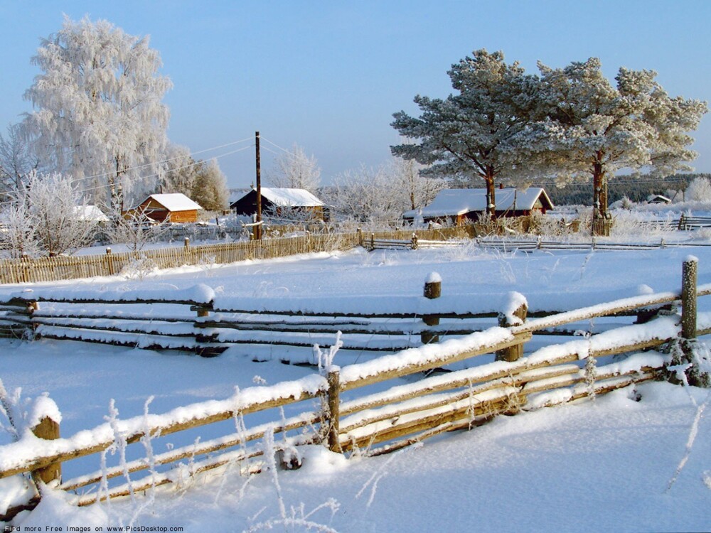
[[[498,192],[498,191],[497,191]],[[605,302],[629,298],[648,303],[653,294],[673,296],[680,289],[679,249],[641,252],[536,251],[530,254],[486,252],[481,249],[379,251],[371,254],[312,254],[278,261],[250,261],[212,269],[184,267],[156,272],[142,281],[121,276],[95,280],[1,286],[0,300],[25,298],[84,298],[122,301],[173,298],[215,301],[219,308],[289,308],[341,311],[370,309],[392,313],[407,309],[424,313],[429,306],[442,309],[506,313],[527,302],[529,311],[569,311],[577,308],[604,312]],[[694,249],[698,278],[711,281],[711,250]],[[634,265],[634,269],[631,268]],[[447,280],[442,298],[422,297],[422,280],[432,272]],[[30,292],[31,291],[31,292]],[[123,295],[123,296],[122,296]],[[459,302],[459,303],[458,303]],[[105,313],[105,304],[81,304],[82,312]],[[137,306],[112,305],[125,316],[151,314],[158,330],[169,329],[160,318],[195,318],[185,308],[156,305],[151,311]],[[711,298],[698,302],[700,328],[711,324]],[[100,312],[99,312],[100,311]],[[590,311],[590,310],[588,310]],[[41,303],[38,316],[61,316],[62,304]],[[211,316],[217,318],[219,313]],[[532,321],[545,319],[530,318]],[[493,361],[454,372],[393,379],[383,385],[349,390],[342,394],[341,411],[353,409],[342,424],[356,424],[371,411],[356,412],[360,405],[384,397],[409,394],[418,387],[437,387],[449,379],[471,380],[498,372],[502,387],[489,392],[474,389],[479,399],[514,392],[506,389],[508,372],[524,370],[529,389],[541,381],[584,377],[584,360],[590,350],[614,348],[621,343],[646,342],[678,334],[675,312],[645,324],[630,325],[634,318],[585,319],[576,327],[594,333],[590,338],[561,342],[561,338],[534,337],[526,343],[524,357],[516,362]],[[494,323],[496,319],[493,319]],[[542,323],[539,323],[541,325]],[[609,325],[623,325],[608,329]],[[183,323],[171,325],[179,330]],[[44,326],[41,326],[44,327]],[[343,383],[367,378],[376,367],[401,369],[427,364],[442,355],[456,355],[481,344],[510,338],[510,331],[491,328],[439,345],[427,345],[387,355],[378,362],[358,352],[336,352],[333,363],[341,367]],[[562,340],[567,340],[562,338]],[[547,345],[556,345],[548,348]],[[700,339],[706,343],[706,338]],[[262,352],[260,352],[262,350]],[[254,362],[268,350],[266,362]],[[38,340],[32,343],[0,339],[1,377],[8,391],[22,387],[28,419],[53,411],[62,419],[62,438],[40,441],[23,435],[18,443],[0,429],[0,468],[28,460],[35,452],[76,449],[112,438],[107,420],[114,399],[121,416],[116,427],[124,434],[140,431],[146,419],[169,425],[196,416],[210,416],[261,399],[283,398],[326,387],[324,376],[309,367],[282,365],[282,348],[240,345],[220,357],[204,359],[169,352],[138,350],[73,341]],[[572,357],[572,358],[569,358]],[[359,360],[360,358],[360,360]],[[599,375],[621,376],[658,367],[668,354],[655,350],[623,359],[600,358]],[[479,360],[479,357],[476,358]],[[568,360],[556,367],[528,369],[548,360]],[[526,370],[528,369],[528,370]],[[266,379],[266,384],[260,384]],[[488,383],[488,382],[487,382]],[[498,383],[497,383],[498,384]],[[580,382],[579,387],[586,387]],[[235,391],[235,387],[239,387]],[[515,389],[518,391],[518,388]],[[43,396],[48,392],[48,397]],[[356,394],[358,393],[358,394]],[[708,391],[666,382],[647,382],[599,395],[594,402],[535,409],[574,394],[574,389],[532,394],[516,416],[500,416],[471,431],[448,432],[389,456],[350,458],[323,446],[302,446],[303,466],[264,470],[254,477],[225,468],[197,478],[183,478],[136,497],[88,507],[75,507],[73,497],[48,491],[32,512],[13,522],[17,527],[183,527],[186,532],[299,529],[306,522],[340,532],[393,533],[412,531],[699,531],[711,527],[706,511],[710,496],[711,426],[707,416],[697,417],[697,406],[709,401]],[[637,395],[641,396],[636,401]],[[150,413],[144,414],[152,397]],[[431,399],[431,398],[430,398]],[[421,402],[422,400],[412,400]],[[311,403],[309,403],[311,402]],[[302,402],[298,411],[284,409],[279,423],[295,412],[319,409],[318,402]],[[32,406],[36,409],[31,409]],[[35,415],[32,415],[32,412]],[[446,409],[443,409],[443,412]],[[380,411],[379,416],[387,414]],[[266,428],[260,413],[250,415],[247,428]],[[110,418],[110,417],[109,417]],[[230,421],[231,422],[231,421]],[[3,420],[4,423],[4,420]],[[385,421],[379,424],[386,424]],[[202,443],[221,438],[204,426]],[[234,431],[234,426],[232,427]],[[690,439],[697,431],[695,439]],[[176,438],[178,434],[175,434]],[[191,437],[192,438],[192,437]],[[280,437],[279,437],[280,438]],[[693,441],[688,451],[688,443]],[[191,441],[173,441],[173,451]],[[277,445],[282,443],[279,440]],[[140,445],[133,445],[140,446]],[[262,446],[267,446],[264,442]],[[688,460],[674,478],[680,461]],[[155,455],[168,453],[156,448]],[[98,460],[77,459],[65,464],[65,478],[85,475]],[[115,458],[114,458],[115,459]],[[133,461],[134,459],[129,459]],[[75,464],[76,463],[76,464]],[[188,465],[169,472],[183,475]],[[670,481],[674,480],[670,485]],[[22,478],[0,480],[2,507],[26,500],[28,486]],[[335,509],[335,511],[334,511]],[[653,512],[650,512],[653,510]],[[293,512],[293,514],[292,514]],[[283,523],[292,519],[290,526]],[[300,522],[299,522],[300,521]],[[292,527],[293,526],[293,527]],[[315,529],[315,528],[312,528]],[[106,530],[106,529],[105,529]],[[147,529],[146,529],[147,530]]]

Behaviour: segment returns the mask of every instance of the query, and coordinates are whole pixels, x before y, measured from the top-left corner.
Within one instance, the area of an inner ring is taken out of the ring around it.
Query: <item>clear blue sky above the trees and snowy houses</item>
[[[0,0],[3,131],[31,109],[22,97],[38,74],[30,58],[63,14],[151,36],[175,85],[165,99],[171,141],[202,151],[259,130],[270,141],[264,172],[277,146],[296,143],[325,183],[387,161],[398,141],[392,113],[417,113],[417,94],[446,97],[451,64],[479,48],[530,72],[537,60],[562,67],[595,56],[611,79],[621,66],[656,70],[670,95],[711,100],[711,1]],[[693,166],[711,172],[711,118],[692,135]],[[231,187],[254,180],[253,149],[218,161]]]

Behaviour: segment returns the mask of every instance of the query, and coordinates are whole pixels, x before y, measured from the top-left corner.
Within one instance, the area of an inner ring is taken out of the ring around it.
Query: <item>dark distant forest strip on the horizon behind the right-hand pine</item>
[[[650,195],[661,194],[675,202],[684,199],[684,191],[694,178],[711,178],[709,173],[674,174],[666,178],[652,178],[642,175],[639,178],[617,176],[607,186],[608,202],[614,203],[625,196],[633,202],[646,201]],[[592,181],[570,183],[564,188],[544,185],[554,205],[590,205],[592,203]]]

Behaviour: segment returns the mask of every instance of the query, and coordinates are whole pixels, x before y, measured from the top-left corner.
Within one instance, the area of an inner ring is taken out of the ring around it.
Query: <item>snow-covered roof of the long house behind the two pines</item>
[[[540,187],[496,189],[496,211],[530,210],[536,201],[545,198],[552,207],[548,195]],[[486,211],[486,189],[444,189],[440,190],[432,203],[422,210],[423,217],[446,217],[464,215],[471,211]],[[420,209],[405,212],[402,216],[412,218]]]

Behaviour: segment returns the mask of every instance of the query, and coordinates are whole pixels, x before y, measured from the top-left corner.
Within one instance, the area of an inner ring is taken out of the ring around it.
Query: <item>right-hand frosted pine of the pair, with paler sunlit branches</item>
[[[597,58],[557,69],[539,63],[539,70],[537,117],[518,135],[520,147],[539,175],[592,178],[597,220],[609,217],[607,181],[617,171],[689,169],[697,154],[688,132],[707,112],[705,102],[670,97],[651,70],[620,68],[612,85]]]

